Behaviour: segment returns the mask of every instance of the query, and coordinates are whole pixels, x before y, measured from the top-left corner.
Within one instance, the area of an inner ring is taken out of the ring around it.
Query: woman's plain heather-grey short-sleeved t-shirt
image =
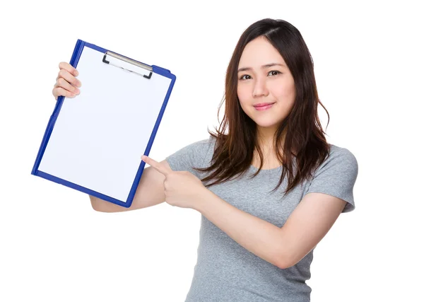
[[[216,139],[209,137],[189,144],[167,156],[172,170],[187,170],[198,178],[206,174],[192,169],[209,165]],[[240,178],[208,187],[218,197],[237,209],[259,217],[281,228],[288,216],[308,192],[320,192],[344,199],[343,212],[355,209],[353,185],[358,175],[358,163],[348,149],[330,145],[330,156],[319,166],[312,180],[305,180],[285,197],[287,177],[278,187],[282,168],[257,171],[250,165]],[[201,216],[197,263],[186,302],[265,302],[310,301],[310,265],[313,250],[293,267],[280,269],[254,255],[235,242],[211,221]]]

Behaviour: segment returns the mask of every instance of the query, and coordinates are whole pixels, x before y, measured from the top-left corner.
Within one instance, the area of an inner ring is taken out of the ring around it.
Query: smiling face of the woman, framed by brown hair
[[[264,37],[249,42],[240,58],[237,95],[258,130],[276,130],[295,103],[295,82],[281,54]],[[256,107],[261,103],[273,103]]]

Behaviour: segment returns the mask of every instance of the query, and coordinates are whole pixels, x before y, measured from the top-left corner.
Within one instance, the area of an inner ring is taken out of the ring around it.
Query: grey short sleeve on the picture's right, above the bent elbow
[[[358,161],[351,151],[331,145],[329,157],[319,166],[307,193],[324,193],[348,202],[342,213],[353,211],[353,186],[358,177]]]

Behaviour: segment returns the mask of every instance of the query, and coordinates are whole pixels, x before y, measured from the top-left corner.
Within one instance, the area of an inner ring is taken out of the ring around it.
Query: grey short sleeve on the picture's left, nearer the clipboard
[[[205,168],[205,160],[211,145],[211,139],[196,141],[188,146],[184,146],[165,160],[174,171],[189,171],[201,178],[200,172],[193,168]]]

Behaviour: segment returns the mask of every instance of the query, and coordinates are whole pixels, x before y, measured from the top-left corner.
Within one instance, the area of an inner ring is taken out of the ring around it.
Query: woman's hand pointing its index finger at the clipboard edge
[[[195,209],[196,203],[201,201],[201,195],[208,190],[199,178],[189,171],[174,171],[161,165],[148,156],[141,159],[165,175],[165,202],[171,206]]]

